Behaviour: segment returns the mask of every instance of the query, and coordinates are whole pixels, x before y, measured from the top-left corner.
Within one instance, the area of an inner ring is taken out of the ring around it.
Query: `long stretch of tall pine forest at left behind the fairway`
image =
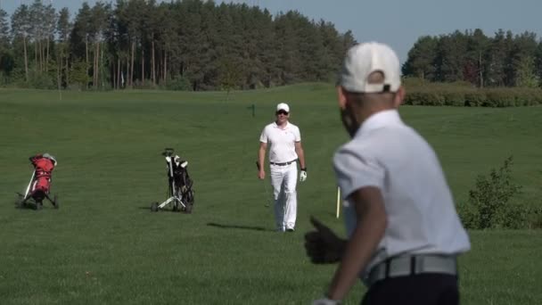
[[[0,85],[38,88],[274,87],[331,81],[356,41],[300,12],[213,1],[35,0],[0,9]]]

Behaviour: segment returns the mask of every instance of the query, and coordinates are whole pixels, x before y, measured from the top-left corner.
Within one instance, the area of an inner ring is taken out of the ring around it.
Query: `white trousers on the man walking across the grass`
[[[296,185],[298,165],[270,165],[273,199],[275,200],[275,224],[278,231],[293,229],[298,211]]]

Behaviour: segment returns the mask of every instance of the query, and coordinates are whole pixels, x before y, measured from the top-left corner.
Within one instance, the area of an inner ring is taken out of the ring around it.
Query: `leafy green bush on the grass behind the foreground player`
[[[480,175],[476,178],[475,188],[469,191],[468,202],[459,206],[465,227],[528,227],[530,209],[510,202],[521,191],[521,185],[514,185],[511,181],[511,166],[512,157],[509,157],[500,169],[492,169],[489,177]]]

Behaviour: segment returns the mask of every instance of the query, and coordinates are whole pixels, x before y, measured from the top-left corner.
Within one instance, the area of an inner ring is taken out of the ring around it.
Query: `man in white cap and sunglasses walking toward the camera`
[[[267,125],[259,136],[259,173],[264,179],[264,160],[269,147],[269,171],[273,198],[275,200],[275,225],[279,232],[293,232],[297,217],[297,161],[300,161],[300,181],[307,178],[305,154],[301,146],[300,128],[288,121],[290,106],[279,103],[276,106],[276,120]]]

